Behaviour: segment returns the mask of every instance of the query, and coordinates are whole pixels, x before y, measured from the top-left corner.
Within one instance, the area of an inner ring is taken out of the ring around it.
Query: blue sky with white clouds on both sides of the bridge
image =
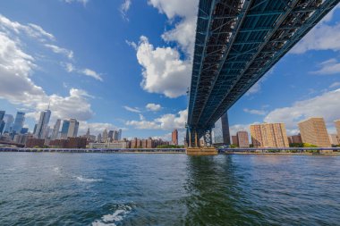
[[[197,0],[0,2],[0,108],[33,128],[57,118],[123,137],[169,138],[186,121]],[[340,9],[276,63],[230,110],[232,133],[253,122],[340,118]],[[182,130],[183,134],[183,130]]]

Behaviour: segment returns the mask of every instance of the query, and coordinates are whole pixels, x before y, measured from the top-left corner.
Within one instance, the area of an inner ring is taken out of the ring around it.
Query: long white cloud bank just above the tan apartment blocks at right
[[[340,88],[310,99],[297,101],[290,107],[277,108],[265,117],[267,122],[285,122],[288,133],[297,130],[297,123],[309,117],[323,117],[327,126],[340,119]]]

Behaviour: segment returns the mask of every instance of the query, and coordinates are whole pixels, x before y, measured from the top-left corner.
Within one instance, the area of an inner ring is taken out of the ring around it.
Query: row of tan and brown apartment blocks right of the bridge
[[[289,147],[293,144],[329,147],[340,144],[340,120],[334,121],[337,134],[328,134],[323,118],[312,117],[298,123],[300,134],[287,136],[285,123],[251,125],[251,144],[247,131],[232,136],[232,144],[238,147]]]

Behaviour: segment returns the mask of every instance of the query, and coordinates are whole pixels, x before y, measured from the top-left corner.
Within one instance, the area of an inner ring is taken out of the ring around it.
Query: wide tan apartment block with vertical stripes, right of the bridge
[[[251,142],[254,147],[289,147],[285,123],[251,125]]]

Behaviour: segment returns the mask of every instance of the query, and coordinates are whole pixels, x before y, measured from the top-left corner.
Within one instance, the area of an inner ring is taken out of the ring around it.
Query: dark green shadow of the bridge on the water
[[[185,225],[256,224],[243,196],[242,176],[233,156],[191,156],[187,163]],[[258,215],[259,217],[259,215]]]

